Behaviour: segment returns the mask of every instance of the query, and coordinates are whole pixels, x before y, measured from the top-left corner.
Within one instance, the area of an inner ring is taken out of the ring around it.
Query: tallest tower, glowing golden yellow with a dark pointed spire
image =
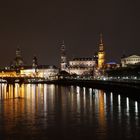
[[[105,65],[105,50],[103,44],[103,37],[100,34],[100,43],[99,43],[99,51],[98,51],[98,68],[102,69]]]

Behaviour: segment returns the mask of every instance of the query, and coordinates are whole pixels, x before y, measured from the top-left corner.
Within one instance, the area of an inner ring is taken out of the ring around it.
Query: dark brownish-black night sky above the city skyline
[[[92,57],[99,34],[108,61],[140,54],[139,0],[3,0],[0,3],[0,66],[22,50],[24,61],[59,65],[59,42],[67,56]]]

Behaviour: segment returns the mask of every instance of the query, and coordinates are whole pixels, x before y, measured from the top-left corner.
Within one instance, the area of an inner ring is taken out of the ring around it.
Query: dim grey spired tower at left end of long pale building
[[[67,57],[64,41],[60,44],[60,51],[61,51],[60,69],[61,71],[63,70],[65,71],[67,69]]]

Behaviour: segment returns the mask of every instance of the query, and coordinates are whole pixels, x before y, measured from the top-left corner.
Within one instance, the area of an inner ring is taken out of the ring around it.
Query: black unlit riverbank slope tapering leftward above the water
[[[104,80],[77,80],[77,79],[60,79],[54,81],[39,81],[36,83],[47,83],[64,86],[80,86],[88,88],[103,89],[108,91],[130,93],[131,95],[140,95],[140,82],[130,81],[104,81]]]

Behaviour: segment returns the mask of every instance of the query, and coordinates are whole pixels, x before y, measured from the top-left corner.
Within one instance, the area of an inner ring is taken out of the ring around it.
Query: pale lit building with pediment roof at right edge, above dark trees
[[[139,55],[130,55],[128,57],[121,58],[122,67],[127,67],[128,65],[135,65],[137,63],[140,63]]]

